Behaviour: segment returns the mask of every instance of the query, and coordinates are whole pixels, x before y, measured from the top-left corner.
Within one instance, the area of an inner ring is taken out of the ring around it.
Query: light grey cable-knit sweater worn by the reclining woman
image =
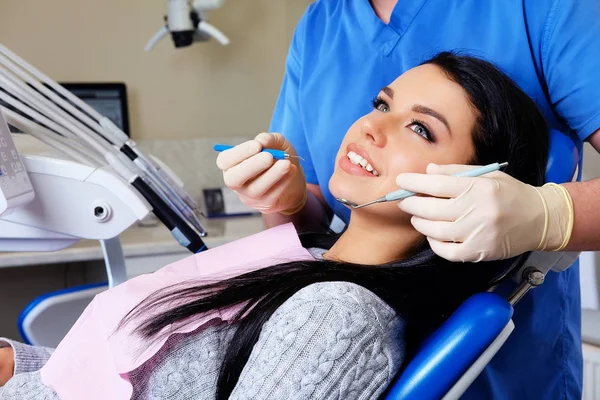
[[[209,400],[235,325],[172,336],[130,373],[136,400]],[[310,285],[263,326],[231,399],[376,399],[404,356],[403,322],[365,288],[344,282]],[[56,400],[41,382],[47,348],[0,339],[15,351],[15,375],[1,400]],[[83,400],[83,399],[82,399]],[[109,400],[109,399],[107,399]]]

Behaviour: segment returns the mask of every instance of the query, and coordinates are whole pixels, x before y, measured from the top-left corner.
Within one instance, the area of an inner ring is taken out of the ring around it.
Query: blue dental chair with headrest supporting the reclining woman
[[[577,179],[578,162],[575,143],[552,130],[546,182]],[[506,272],[517,283],[509,298],[493,292],[471,296],[424,342],[388,388],[385,399],[459,399],[515,329],[515,304],[530,289],[543,284],[549,271],[564,271],[578,256],[578,252],[534,252],[520,268]]]

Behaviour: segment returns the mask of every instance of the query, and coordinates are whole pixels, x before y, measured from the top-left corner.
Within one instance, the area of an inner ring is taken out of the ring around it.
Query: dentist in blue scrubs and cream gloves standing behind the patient
[[[283,136],[257,137],[264,147],[287,150],[291,144],[304,158],[302,168],[277,162],[260,179],[238,180],[247,182],[235,187],[242,200],[260,209],[268,226],[292,221],[321,228],[328,226],[333,213],[347,221],[349,210],[328,189],[331,160],[344,133],[370,111],[369,99],[382,87],[444,50],[493,62],[536,100],[550,127],[570,135],[580,150],[584,141],[600,150],[598,0],[317,0],[299,22],[287,56],[270,127]],[[425,182],[428,194],[436,196],[436,187],[454,183],[444,181],[453,178],[443,175],[453,168],[432,167],[412,180],[401,175],[398,183],[416,191],[418,182]],[[490,201],[489,192],[480,189],[485,178],[461,179],[473,179],[463,202],[493,208],[478,223],[486,231],[506,233],[506,239],[518,244],[507,250],[499,248],[502,241],[480,238],[476,259],[507,258],[537,248],[539,238],[535,243],[524,238],[539,231],[539,219],[525,217],[538,213],[543,221],[544,210],[536,208],[538,200],[523,197],[528,191],[519,190],[520,182],[510,178],[512,182]],[[264,187],[252,189],[252,182]],[[600,250],[600,180],[565,187],[575,211],[566,250]],[[444,197],[439,190],[436,197]],[[512,202],[506,201],[509,198]],[[413,225],[428,236],[434,251],[452,260],[475,260],[468,239],[448,246],[456,241],[455,232],[447,230],[444,236],[444,230],[437,229],[447,222],[427,215],[422,203],[426,198],[410,200],[405,211],[414,215]],[[515,206],[519,203],[529,206],[523,210]],[[521,215],[524,212],[528,215]],[[486,219],[494,213],[502,218]],[[532,221],[538,221],[537,226]],[[464,230],[461,223],[453,226]],[[511,238],[509,232],[520,237]],[[521,301],[514,319],[518,329],[464,398],[581,399],[579,269],[551,272],[542,287]]]

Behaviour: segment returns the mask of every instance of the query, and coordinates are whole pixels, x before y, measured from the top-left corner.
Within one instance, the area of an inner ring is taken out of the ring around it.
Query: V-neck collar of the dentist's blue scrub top
[[[354,16],[367,39],[388,56],[398,44],[427,0],[399,0],[385,24],[373,10],[369,0],[350,0]]]

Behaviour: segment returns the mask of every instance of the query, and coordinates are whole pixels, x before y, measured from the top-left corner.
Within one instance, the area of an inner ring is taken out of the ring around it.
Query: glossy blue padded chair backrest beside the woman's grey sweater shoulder
[[[494,293],[471,296],[423,344],[392,384],[386,400],[439,400],[487,349],[512,318],[513,308]]]

